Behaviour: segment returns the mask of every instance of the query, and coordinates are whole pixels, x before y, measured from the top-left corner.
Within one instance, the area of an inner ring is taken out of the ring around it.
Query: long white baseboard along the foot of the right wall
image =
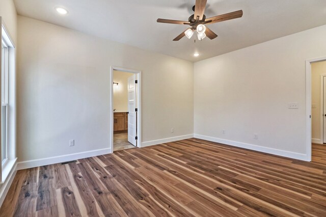
[[[241,143],[241,142],[236,142],[236,141],[231,141],[231,140],[225,140],[225,139],[220,139],[220,138],[215,138],[215,137],[208,137],[207,135],[194,134],[194,137],[197,139],[208,140],[211,142],[236,146],[239,148],[246,148],[246,149],[260,151],[260,152],[264,152],[264,153],[268,153],[268,154],[275,154],[275,155],[279,155],[279,156],[283,156],[283,157],[289,157],[289,158],[293,158],[293,159],[309,161],[309,157],[307,154],[301,154],[301,153],[297,153],[297,152],[285,151],[285,150],[280,150],[280,149],[275,149],[275,148],[268,148],[268,147],[263,147],[263,146],[248,144],[248,143]]]

